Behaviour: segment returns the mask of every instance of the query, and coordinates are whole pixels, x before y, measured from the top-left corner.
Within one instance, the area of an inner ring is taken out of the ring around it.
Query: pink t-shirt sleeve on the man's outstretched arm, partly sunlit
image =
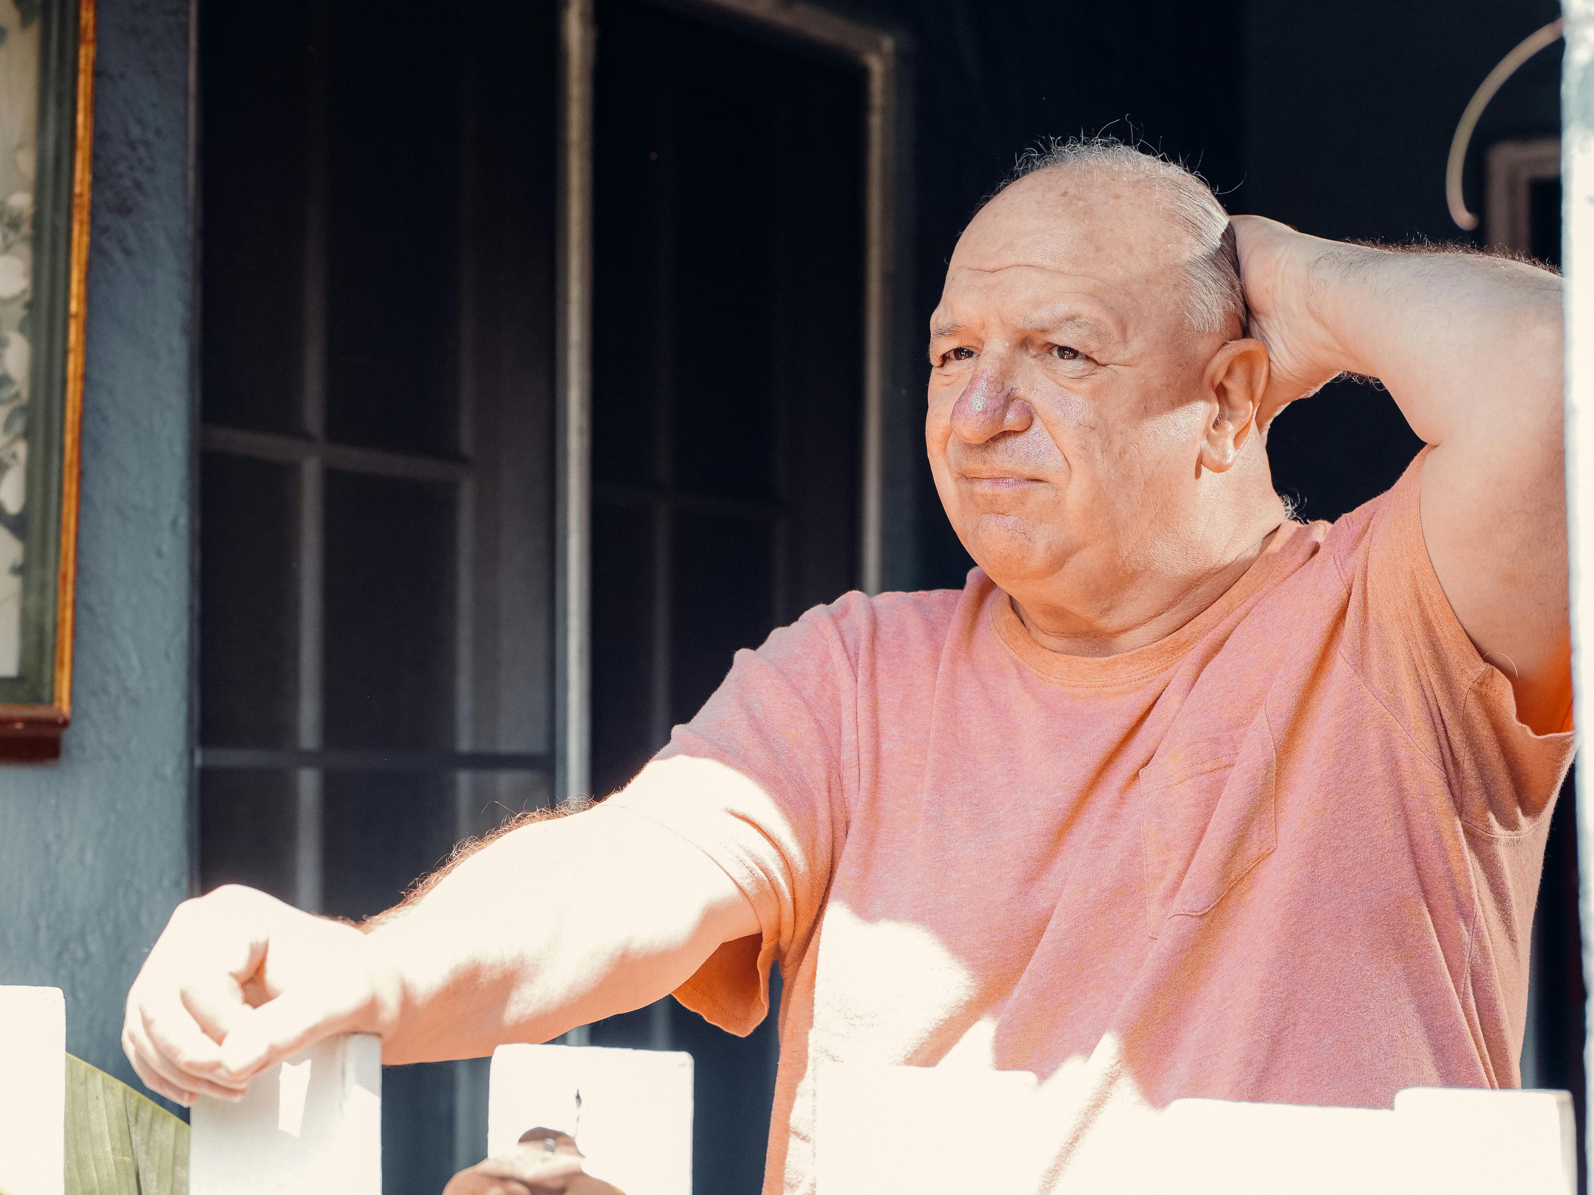
[[[757,913],[759,937],[727,942],[674,993],[730,1032],[757,1028],[770,964],[805,950],[846,835],[856,671],[837,610],[845,617],[858,602],[867,598],[810,610],[757,652],[736,652],[720,687],[655,757],[709,760],[719,765],[705,770],[709,782],[665,784],[650,765],[606,801],[693,843]]]

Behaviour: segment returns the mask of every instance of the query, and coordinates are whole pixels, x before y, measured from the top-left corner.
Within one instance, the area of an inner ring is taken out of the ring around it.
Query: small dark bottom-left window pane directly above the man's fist
[[[249,884],[292,902],[296,825],[296,773],[202,770],[199,889]]]

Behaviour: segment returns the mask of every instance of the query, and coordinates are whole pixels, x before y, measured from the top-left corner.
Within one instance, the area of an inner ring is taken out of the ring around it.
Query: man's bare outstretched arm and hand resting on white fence
[[[692,784],[671,763],[644,778]],[[504,835],[368,934],[250,889],[185,902],[128,994],[123,1047],[183,1104],[338,1032],[381,1034],[384,1063],[472,1058],[642,1007],[759,932],[703,851],[599,806]]]

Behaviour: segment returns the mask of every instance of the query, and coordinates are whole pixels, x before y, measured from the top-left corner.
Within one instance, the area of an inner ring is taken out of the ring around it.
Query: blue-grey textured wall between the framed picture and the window
[[[0,768],[0,983],[65,989],[67,1048],[132,1080],[128,985],[188,887],[186,0],[100,0],[75,715]]]

